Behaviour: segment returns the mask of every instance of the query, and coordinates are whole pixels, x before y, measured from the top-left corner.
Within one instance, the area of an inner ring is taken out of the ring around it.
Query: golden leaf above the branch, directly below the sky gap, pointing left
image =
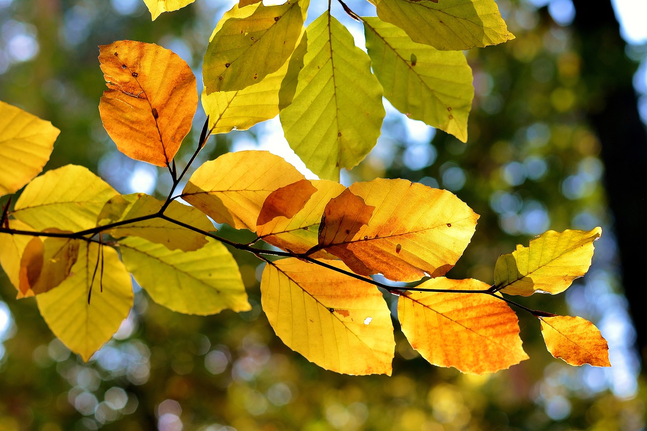
[[[294,166],[268,151],[226,153],[195,170],[182,198],[217,223],[256,231],[265,198],[302,179]]]

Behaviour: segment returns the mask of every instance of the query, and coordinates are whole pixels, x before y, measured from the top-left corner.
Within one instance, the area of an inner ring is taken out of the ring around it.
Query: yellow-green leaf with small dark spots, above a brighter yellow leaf
[[[204,54],[206,94],[242,90],[278,71],[299,40],[309,0],[225,12]]]

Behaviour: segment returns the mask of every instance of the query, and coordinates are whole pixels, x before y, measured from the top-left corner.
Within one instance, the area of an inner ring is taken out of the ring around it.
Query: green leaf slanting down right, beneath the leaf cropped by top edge
[[[362,19],[366,49],[384,97],[409,118],[466,142],[474,87],[463,52],[415,43],[402,29],[377,17]]]

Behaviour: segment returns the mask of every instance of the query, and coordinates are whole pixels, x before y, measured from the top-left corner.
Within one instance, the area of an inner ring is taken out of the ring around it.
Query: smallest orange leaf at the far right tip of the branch
[[[609,346],[594,324],[581,317],[540,317],[543,340],[551,355],[567,364],[610,367]]]

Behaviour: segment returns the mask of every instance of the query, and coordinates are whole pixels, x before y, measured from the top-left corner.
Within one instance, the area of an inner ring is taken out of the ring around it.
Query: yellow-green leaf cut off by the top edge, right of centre
[[[494,0],[375,0],[377,16],[417,42],[465,50],[514,39]]]

